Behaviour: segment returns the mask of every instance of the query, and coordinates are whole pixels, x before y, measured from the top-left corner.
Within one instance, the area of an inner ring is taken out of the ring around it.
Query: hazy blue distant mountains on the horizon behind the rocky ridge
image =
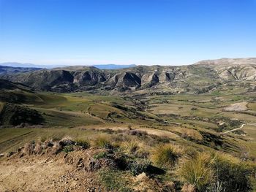
[[[60,68],[68,65],[36,65],[36,64],[21,64],[17,62],[6,62],[6,63],[1,63],[0,66],[53,69],[53,68]],[[97,67],[98,69],[126,69],[136,65],[135,64],[132,64],[132,65],[104,64],[104,65],[92,65],[92,66]]]

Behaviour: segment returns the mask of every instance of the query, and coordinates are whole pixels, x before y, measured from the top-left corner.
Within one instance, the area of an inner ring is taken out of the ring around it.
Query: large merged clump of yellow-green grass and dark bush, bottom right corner
[[[197,191],[251,191],[255,166],[231,155],[198,153],[178,169],[181,178]]]

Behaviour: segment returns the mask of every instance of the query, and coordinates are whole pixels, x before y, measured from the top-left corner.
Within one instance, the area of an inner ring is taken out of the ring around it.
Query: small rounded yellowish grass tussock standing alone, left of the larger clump
[[[184,153],[181,147],[175,145],[159,145],[152,151],[152,161],[160,166],[175,166],[178,158]]]

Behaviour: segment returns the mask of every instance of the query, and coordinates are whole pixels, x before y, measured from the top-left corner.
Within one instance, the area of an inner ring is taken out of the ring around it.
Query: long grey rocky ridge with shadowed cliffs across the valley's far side
[[[225,82],[256,80],[256,58],[222,58],[189,66],[135,66],[129,69],[100,70],[70,66],[18,74],[3,79],[20,82],[41,91],[141,91],[197,92]]]

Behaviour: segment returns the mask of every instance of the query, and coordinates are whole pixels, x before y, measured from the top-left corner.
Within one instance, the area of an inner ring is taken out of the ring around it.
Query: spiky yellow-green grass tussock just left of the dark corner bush
[[[200,153],[195,158],[185,160],[178,169],[178,174],[187,183],[195,185],[197,191],[206,191],[214,177],[211,169],[211,156]]]

